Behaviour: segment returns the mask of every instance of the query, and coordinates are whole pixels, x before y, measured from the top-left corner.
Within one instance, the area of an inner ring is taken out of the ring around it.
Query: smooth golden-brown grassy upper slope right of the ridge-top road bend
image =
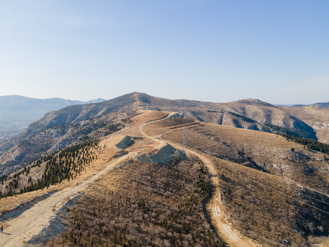
[[[169,128],[157,129],[159,133],[164,132],[164,139],[182,143],[182,128],[170,132],[165,132]],[[329,181],[329,165],[324,161],[324,154],[304,150],[303,145],[289,142],[276,134],[202,123],[186,128],[186,143],[188,148],[211,156],[263,169],[329,192],[326,183]]]

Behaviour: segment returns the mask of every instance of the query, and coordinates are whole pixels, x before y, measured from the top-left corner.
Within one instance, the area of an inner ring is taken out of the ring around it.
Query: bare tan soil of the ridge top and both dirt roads
[[[54,193],[49,198],[37,202],[18,217],[14,219],[11,217],[11,220],[4,222],[5,234],[1,235],[0,246],[22,246],[24,243],[26,246],[45,244],[51,236],[58,234],[63,229],[63,225],[60,224],[58,217],[60,210],[65,209],[63,206],[66,202],[70,202],[72,198],[82,193],[90,183],[99,179],[100,176],[117,169],[119,165],[125,165],[124,161],[127,158],[144,156],[148,161],[160,163],[160,161],[175,155],[175,151],[181,150],[182,146],[161,139],[161,134],[156,134],[159,132],[151,131],[151,128],[147,126],[159,121],[165,121],[164,119],[169,119],[173,114],[159,113],[152,110],[143,112],[143,115],[138,115],[132,119],[133,124],[129,128],[125,128],[103,139],[101,145],[107,146],[108,153],[96,161],[98,165],[95,165],[95,168],[90,167],[90,169],[93,169],[93,174],[85,175],[80,180],[77,180],[77,185],[70,183],[66,184],[66,187],[58,187],[58,189],[61,188],[60,191]],[[178,128],[186,128],[190,125],[189,123],[182,123],[179,127],[173,126],[172,129],[167,129],[166,133]],[[126,136],[142,137],[143,139],[137,139],[134,143],[125,145],[124,152],[118,152],[115,145]],[[159,152],[161,155],[155,156]],[[207,204],[207,210],[219,237],[226,242],[227,246],[260,246],[254,240],[236,231],[234,226],[228,221],[226,209],[221,201],[219,178],[210,158],[189,149],[187,154],[197,156],[206,165],[210,173],[214,190],[212,198]]]

